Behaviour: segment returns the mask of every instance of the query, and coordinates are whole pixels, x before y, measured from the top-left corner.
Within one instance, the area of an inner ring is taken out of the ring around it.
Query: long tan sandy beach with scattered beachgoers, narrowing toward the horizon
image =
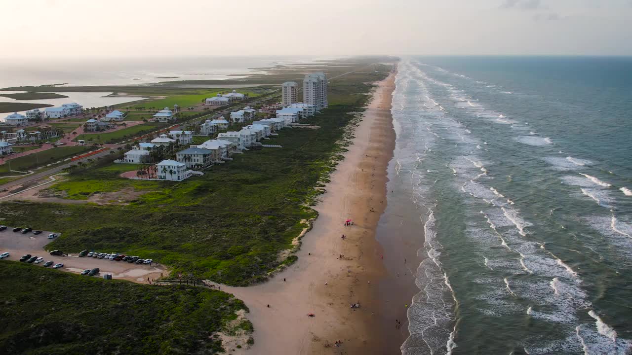
[[[375,88],[353,145],[315,207],[319,217],[302,239],[298,262],[264,284],[221,287],[246,303],[255,327],[255,344],[247,351],[228,346],[229,353],[399,354],[405,327],[397,330],[395,318],[382,312],[379,281],[386,269],[375,240],[394,148],[394,76]],[[346,219],[354,225],[345,227]],[[352,309],[357,302],[360,308]],[[392,322],[390,332],[384,322]],[[343,344],[334,346],[336,340]]]

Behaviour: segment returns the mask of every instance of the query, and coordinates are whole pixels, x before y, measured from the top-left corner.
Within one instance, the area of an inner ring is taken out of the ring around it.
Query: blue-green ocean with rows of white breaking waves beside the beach
[[[631,353],[632,58],[407,57],[392,104],[402,353]]]

